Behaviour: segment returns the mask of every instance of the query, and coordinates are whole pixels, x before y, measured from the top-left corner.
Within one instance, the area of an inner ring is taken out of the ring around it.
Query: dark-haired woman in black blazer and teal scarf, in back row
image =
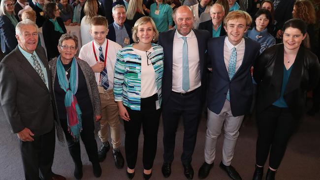
[[[43,23],[43,40],[47,50],[48,60],[59,56],[57,49],[59,38],[66,33],[64,21],[59,17],[60,12],[55,2],[49,2],[44,5],[44,15],[47,20]]]

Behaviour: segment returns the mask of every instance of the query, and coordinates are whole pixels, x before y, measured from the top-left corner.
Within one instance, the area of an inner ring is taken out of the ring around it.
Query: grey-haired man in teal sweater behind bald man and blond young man
[[[208,30],[211,37],[219,37],[225,35],[225,30],[222,24],[224,18],[224,6],[215,3],[210,8],[211,20],[199,24],[199,30]]]

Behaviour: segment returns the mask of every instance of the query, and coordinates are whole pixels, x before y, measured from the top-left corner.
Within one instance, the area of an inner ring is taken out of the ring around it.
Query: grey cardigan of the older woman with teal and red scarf
[[[99,97],[98,87],[96,85],[95,73],[86,61],[80,60],[79,58],[76,58],[76,60],[77,60],[79,66],[85,76],[90,100],[92,103],[92,107],[94,108],[94,119],[95,119],[96,115],[101,115],[100,97]],[[51,70],[52,87],[54,87],[54,82],[55,82],[56,73],[57,73],[57,59],[50,60],[49,67]],[[56,106],[57,106],[57,104],[56,104]],[[60,120],[58,120],[58,121],[60,122]],[[58,126],[58,127],[56,127],[58,140],[60,142],[64,143],[63,129],[62,129],[60,123],[58,123],[56,125]]]

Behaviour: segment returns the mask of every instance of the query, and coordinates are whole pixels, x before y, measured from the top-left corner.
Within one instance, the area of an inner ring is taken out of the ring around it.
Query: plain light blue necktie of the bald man
[[[187,92],[190,89],[188,43],[187,43],[187,37],[181,37],[181,38],[184,40],[183,48],[182,48],[182,90]]]

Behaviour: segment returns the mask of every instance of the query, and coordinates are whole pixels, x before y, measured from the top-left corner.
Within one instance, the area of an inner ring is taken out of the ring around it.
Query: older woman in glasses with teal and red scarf
[[[75,164],[74,177],[82,178],[79,139],[85,145],[95,177],[101,176],[95,139],[94,120],[101,119],[101,108],[96,78],[87,62],[75,58],[78,38],[65,33],[59,39],[60,56],[51,60],[52,83],[60,124]],[[59,128],[58,128],[59,129]],[[62,133],[62,132],[57,132]]]

